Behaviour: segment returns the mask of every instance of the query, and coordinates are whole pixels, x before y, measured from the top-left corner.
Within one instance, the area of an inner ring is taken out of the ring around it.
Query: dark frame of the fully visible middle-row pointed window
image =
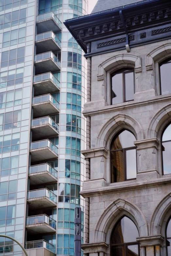
[[[130,133],[132,133],[133,134],[133,132],[131,132],[131,131],[129,131],[128,129],[122,129],[121,131],[119,131],[114,137],[113,137],[113,139],[112,139],[112,141],[111,141],[111,146],[110,146],[110,164],[111,164],[111,183],[117,183],[117,181],[114,181],[114,182],[112,182],[112,163],[111,163],[111,160],[112,160],[112,157],[111,157],[111,153],[112,152],[116,152],[116,151],[123,151],[123,155],[124,155],[124,164],[123,164],[123,166],[124,166],[124,181],[127,181],[127,180],[135,180],[136,178],[133,178],[133,179],[126,179],[126,175],[127,175],[127,163],[126,163],[126,151],[128,151],[128,150],[131,150],[131,149],[136,149],[136,171],[137,171],[137,147],[135,146],[135,147],[129,147],[129,148],[122,148],[122,149],[117,149],[117,150],[111,150],[111,147],[112,147],[112,144],[113,144],[113,142],[114,142],[114,140],[123,132],[123,131],[128,131],[128,132],[130,132]],[[134,134],[133,134],[134,135]],[[135,136],[135,135],[134,135]],[[115,179],[115,174],[114,174],[114,180],[116,180]],[[121,181],[122,182],[122,181]]]

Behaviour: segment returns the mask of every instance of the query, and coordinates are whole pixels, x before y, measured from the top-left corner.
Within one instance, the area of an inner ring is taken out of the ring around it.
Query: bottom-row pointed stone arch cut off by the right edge
[[[165,228],[171,216],[171,193],[167,194],[156,206],[149,225],[149,235],[162,235],[165,237]]]

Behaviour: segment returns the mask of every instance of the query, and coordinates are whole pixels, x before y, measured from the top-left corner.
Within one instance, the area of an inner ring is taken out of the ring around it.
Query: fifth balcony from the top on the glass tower
[[[60,103],[52,95],[45,94],[32,99],[34,118],[53,115],[59,113]]]

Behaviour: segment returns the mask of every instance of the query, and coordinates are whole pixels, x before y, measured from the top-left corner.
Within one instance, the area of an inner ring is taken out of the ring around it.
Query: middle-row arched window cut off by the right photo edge
[[[169,124],[162,135],[162,165],[163,174],[171,174],[171,124]]]

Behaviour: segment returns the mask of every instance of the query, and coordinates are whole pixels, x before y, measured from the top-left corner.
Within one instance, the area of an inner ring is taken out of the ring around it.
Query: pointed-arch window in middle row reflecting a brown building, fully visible
[[[111,183],[136,179],[137,153],[135,136],[122,130],[111,142]]]

